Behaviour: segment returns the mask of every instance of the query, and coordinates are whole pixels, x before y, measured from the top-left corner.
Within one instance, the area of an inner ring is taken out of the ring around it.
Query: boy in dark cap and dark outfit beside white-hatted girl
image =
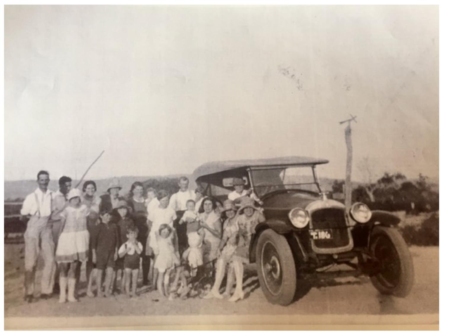
[[[115,261],[117,260],[118,231],[117,225],[111,223],[109,211],[100,212],[100,224],[91,236],[92,245],[92,263],[97,267],[97,296],[109,296],[112,278],[114,273]],[[102,292],[102,273],[105,274],[105,289]]]

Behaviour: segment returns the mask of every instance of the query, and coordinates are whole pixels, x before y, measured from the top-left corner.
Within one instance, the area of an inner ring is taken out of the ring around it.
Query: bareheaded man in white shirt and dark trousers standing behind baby
[[[173,226],[176,229],[176,235],[178,236],[179,253],[182,255],[188,247],[188,237],[186,235],[186,225],[180,225],[179,220],[186,210],[186,201],[190,199],[195,200],[196,194],[193,190],[188,190],[189,179],[186,177],[179,178],[178,186],[179,190],[171,196],[168,207],[173,208],[176,211],[177,218],[174,220]]]

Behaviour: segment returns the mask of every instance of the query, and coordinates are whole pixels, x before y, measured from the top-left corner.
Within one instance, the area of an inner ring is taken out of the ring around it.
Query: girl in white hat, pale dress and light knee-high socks
[[[76,302],[74,289],[76,286],[76,271],[79,262],[87,260],[89,251],[89,232],[87,231],[87,215],[89,209],[81,204],[81,192],[70,190],[67,198],[69,206],[64,208],[61,215],[61,233],[56,249],[56,262],[59,265],[59,302]]]

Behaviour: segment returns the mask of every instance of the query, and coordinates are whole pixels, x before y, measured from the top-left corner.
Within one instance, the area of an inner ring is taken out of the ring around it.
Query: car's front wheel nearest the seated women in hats
[[[258,236],[257,273],[265,298],[272,304],[286,306],[296,291],[296,268],[286,239],[271,229]]]

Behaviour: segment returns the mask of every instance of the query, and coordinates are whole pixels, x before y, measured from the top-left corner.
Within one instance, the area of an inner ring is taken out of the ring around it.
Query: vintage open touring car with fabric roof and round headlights
[[[266,299],[288,305],[297,282],[324,275],[368,275],[382,294],[405,297],[413,285],[413,263],[392,213],[355,203],[350,210],[328,199],[311,157],[210,162],[194,172],[208,196],[227,199],[233,178],[242,178],[263,201],[266,221],[250,244]],[[337,264],[347,271],[325,272]]]

